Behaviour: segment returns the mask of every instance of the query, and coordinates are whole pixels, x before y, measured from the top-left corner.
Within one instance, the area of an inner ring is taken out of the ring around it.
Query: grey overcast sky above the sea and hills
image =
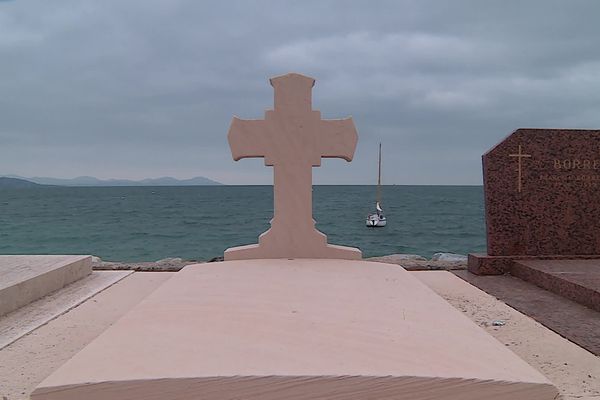
[[[381,141],[384,183],[481,184],[516,128],[600,128],[599,17],[595,0],[0,0],[0,175],[269,184],[226,134],[293,71],[359,132],[315,183],[374,183]]]

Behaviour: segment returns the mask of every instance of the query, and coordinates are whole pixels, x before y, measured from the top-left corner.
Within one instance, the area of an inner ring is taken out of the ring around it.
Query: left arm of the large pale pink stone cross
[[[264,157],[266,124],[263,119],[233,117],[227,140],[235,161],[248,157]]]

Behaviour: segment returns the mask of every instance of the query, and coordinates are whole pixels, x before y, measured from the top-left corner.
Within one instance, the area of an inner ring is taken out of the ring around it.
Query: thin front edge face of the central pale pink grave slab
[[[550,385],[396,376],[228,376],[93,383],[38,389],[32,399],[554,400]],[[114,397],[116,396],[116,397]]]

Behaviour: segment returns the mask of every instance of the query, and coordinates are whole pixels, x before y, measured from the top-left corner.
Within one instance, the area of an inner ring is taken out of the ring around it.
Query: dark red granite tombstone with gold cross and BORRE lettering
[[[483,155],[483,179],[487,254],[471,272],[600,258],[600,130],[518,129]]]

